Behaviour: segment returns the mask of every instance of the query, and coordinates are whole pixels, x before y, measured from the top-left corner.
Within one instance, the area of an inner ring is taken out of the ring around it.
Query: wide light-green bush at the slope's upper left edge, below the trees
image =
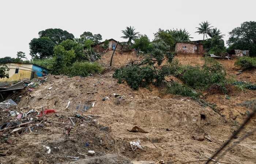
[[[86,77],[90,74],[101,73],[103,67],[97,62],[75,62],[71,67],[68,67],[67,70],[68,75]]]

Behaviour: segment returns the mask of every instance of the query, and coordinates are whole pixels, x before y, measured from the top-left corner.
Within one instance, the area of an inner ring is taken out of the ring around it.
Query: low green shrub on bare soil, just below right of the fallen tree
[[[186,85],[182,85],[177,82],[172,82],[170,85],[166,86],[166,93],[177,94],[188,97],[199,97],[201,94],[197,93],[195,90],[191,89]]]

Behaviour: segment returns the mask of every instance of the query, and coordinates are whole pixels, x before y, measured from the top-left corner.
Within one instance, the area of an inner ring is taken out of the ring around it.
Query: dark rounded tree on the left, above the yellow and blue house
[[[29,43],[32,58],[46,58],[53,55],[55,43],[48,37],[34,38]]]

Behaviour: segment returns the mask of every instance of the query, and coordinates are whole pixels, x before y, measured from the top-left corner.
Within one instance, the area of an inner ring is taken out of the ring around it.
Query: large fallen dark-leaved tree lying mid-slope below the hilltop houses
[[[169,53],[169,46],[164,42],[152,43],[152,50],[144,54],[144,58],[139,65],[130,65],[117,69],[113,74],[114,78],[121,83],[126,81],[132,89],[147,87],[150,83],[160,86],[165,80],[165,76],[170,74],[167,65],[161,66],[163,60],[172,62],[173,54]]]

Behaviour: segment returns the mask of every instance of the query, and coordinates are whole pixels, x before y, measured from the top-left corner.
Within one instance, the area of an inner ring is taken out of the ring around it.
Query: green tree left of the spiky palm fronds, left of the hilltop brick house
[[[154,34],[155,42],[163,41],[165,42],[169,47],[170,50],[173,50],[175,47],[174,38],[172,35],[172,32],[170,30],[162,30],[161,28],[158,29],[158,32]]]

